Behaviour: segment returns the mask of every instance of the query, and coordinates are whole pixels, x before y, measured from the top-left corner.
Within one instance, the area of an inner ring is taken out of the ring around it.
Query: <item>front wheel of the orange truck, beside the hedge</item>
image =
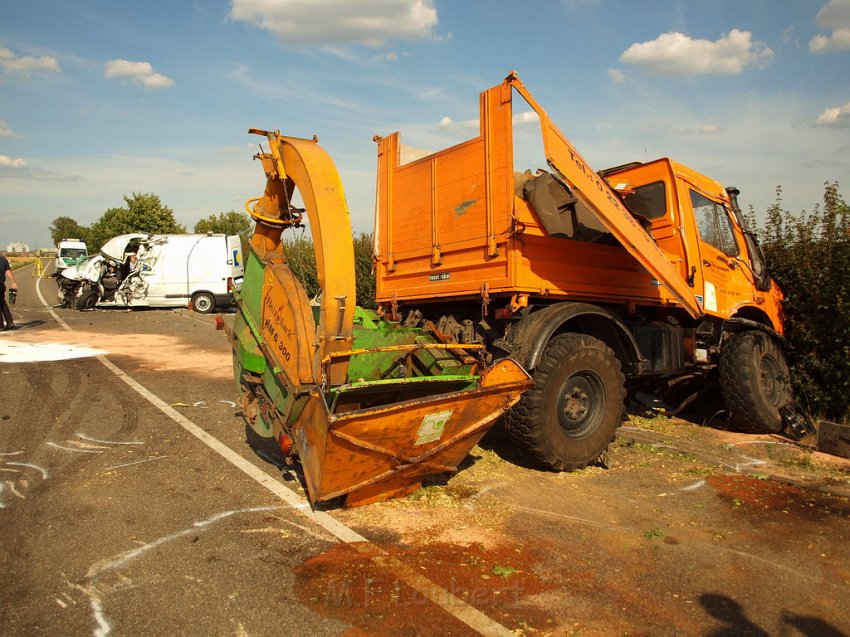
[[[779,344],[762,332],[742,332],[720,350],[720,391],[734,425],[755,433],[782,430],[779,413],[791,399],[791,374]]]

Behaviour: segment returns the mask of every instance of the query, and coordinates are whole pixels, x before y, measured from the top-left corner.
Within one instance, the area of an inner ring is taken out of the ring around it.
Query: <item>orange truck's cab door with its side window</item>
[[[702,272],[702,290],[697,294],[707,314],[728,318],[736,307],[753,298],[752,283],[738,260],[742,246],[735,238],[730,211],[722,202],[693,189],[689,194]]]

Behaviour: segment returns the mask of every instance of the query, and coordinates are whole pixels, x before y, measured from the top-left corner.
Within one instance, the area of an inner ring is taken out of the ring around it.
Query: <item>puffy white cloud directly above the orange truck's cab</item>
[[[661,75],[738,75],[747,66],[766,64],[773,57],[771,49],[751,37],[749,31],[739,29],[715,42],[664,33],[655,40],[632,44],[620,61]]]

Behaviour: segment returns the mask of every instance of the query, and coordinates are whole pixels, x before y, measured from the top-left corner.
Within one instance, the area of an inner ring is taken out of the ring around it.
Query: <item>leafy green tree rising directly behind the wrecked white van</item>
[[[133,193],[124,196],[124,208],[110,208],[92,224],[89,234],[89,251],[100,247],[120,234],[144,232],[151,234],[183,234],[186,227],[177,223],[174,211],[163,205],[153,193]]]

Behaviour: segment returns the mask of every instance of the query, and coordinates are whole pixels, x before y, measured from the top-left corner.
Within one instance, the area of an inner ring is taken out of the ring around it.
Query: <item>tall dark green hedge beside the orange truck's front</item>
[[[750,216],[752,220],[752,215]],[[785,293],[785,335],[799,402],[816,417],[850,418],[850,207],[837,183],[823,205],[794,215],[782,189],[759,239]]]

